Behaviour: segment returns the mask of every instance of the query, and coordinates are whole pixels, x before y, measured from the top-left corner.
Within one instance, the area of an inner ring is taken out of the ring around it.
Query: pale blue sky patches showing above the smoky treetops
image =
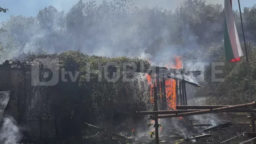
[[[59,11],[64,10],[65,12],[68,12],[78,1],[79,0],[1,0],[0,6],[2,8],[8,8],[9,11],[7,13],[0,13],[0,22],[9,18],[10,15],[36,16],[39,10],[51,5]],[[134,4],[139,8],[145,6],[152,8],[157,5],[166,10],[174,10],[183,1],[184,0],[134,0]],[[83,2],[89,2],[89,0],[83,0]],[[101,3],[102,0],[96,0],[96,2]],[[224,5],[224,0],[206,0],[206,3]],[[238,1],[233,0],[232,3],[233,8],[239,10]],[[244,7],[250,7],[254,4],[256,4],[255,0],[240,0],[242,10]]]

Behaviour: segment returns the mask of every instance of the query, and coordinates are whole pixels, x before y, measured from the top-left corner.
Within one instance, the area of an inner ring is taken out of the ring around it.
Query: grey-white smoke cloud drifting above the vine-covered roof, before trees
[[[15,48],[3,56],[8,59],[29,51],[80,50],[90,55],[141,57],[170,63],[174,62],[175,54],[198,49],[198,38],[178,14],[172,16],[173,12],[158,7],[136,8],[130,0],[118,2],[96,5],[81,1],[67,13],[49,6],[33,18],[11,16],[2,22],[8,37],[2,35],[0,40],[3,46],[11,43]],[[170,18],[164,18],[163,14]],[[177,31],[185,43],[175,41]]]

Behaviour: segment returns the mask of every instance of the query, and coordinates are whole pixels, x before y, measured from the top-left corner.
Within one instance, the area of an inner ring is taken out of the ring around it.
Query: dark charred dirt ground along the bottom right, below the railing
[[[219,120],[224,122],[232,122],[231,125],[223,128],[218,128],[212,131],[209,131],[208,133],[211,134],[210,137],[205,138],[198,138],[193,141],[179,141],[179,140],[171,140],[169,138],[166,138],[166,136],[161,136],[160,134],[160,144],[218,144],[219,142],[223,142],[225,140],[228,140],[230,138],[233,138],[234,136],[237,136],[238,134],[242,134],[244,132],[252,132],[251,130],[251,124],[250,120],[246,119],[247,115],[245,113],[221,113],[216,114]],[[247,138],[247,135],[241,135],[238,136],[228,142],[225,142],[224,144],[240,144],[241,142],[244,142],[246,140],[250,140],[250,138]],[[88,143],[88,142],[87,142]],[[90,143],[90,142],[89,142]],[[94,144],[98,142],[93,142]],[[155,139],[151,140],[147,135],[144,136],[144,138],[140,138],[139,140],[130,139],[128,141],[112,141],[112,142],[100,142],[99,144],[155,144]],[[252,142],[247,142],[246,144],[250,144]]]

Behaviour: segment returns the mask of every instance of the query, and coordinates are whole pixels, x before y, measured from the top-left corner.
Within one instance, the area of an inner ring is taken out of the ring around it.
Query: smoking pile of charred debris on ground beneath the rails
[[[212,118],[211,118],[212,116]],[[207,117],[207,118],[206,118]],[[211,136],[211,132],[230,126],[231,122],[223,122],[218,120],[215,116],[190,116],[179,117],[172,119],[158,119],[159,123],[159,141],[196,141],[197,139],[208,138]],[[99,128],[88,124],[92,130],[96,131],[96,135],[90,138],[86,138],[88,142],[100,142],[106,141],[108,138],[108,130]],[[143,128],[144,127],[144,128]],[[148,127],[148,128],[146,128]],[[112,133],[112,140],[121,142],[154,142],[155,141],[155,128],[154,120],[148,122],[148,124],[140,125],[130,129],[130,127],[123,127],[123,131],[114,130]],[[145,129],[146,128],[146,129]],[[130,131],[130,132],[127,132]]]

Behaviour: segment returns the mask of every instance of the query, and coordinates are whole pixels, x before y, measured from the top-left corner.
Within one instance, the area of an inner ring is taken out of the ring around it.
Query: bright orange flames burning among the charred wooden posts
[[[175,65],[166,65],[166,67],[171,67],[171,68],[176,68],[176,69],[181,69],[182,68],[182,62],[180,60],[179,56],[174,56],[174,59],[176,61]],[[154,76],[155,77],[155,76]],[[148,81],[148,84],[150,84],[150,101],[153,103],[154,102],[154,96],[153,94],[153,87],[154,84],[152,84],[152,78],[150,75],[146,75],[146,79]],[[167,79],[165,81],[166,85],[166,101],[168,102],[168,106],[170,108],[176,109],[176,80],[173,79]],[[161,91],[161,87],[160,87]]]

